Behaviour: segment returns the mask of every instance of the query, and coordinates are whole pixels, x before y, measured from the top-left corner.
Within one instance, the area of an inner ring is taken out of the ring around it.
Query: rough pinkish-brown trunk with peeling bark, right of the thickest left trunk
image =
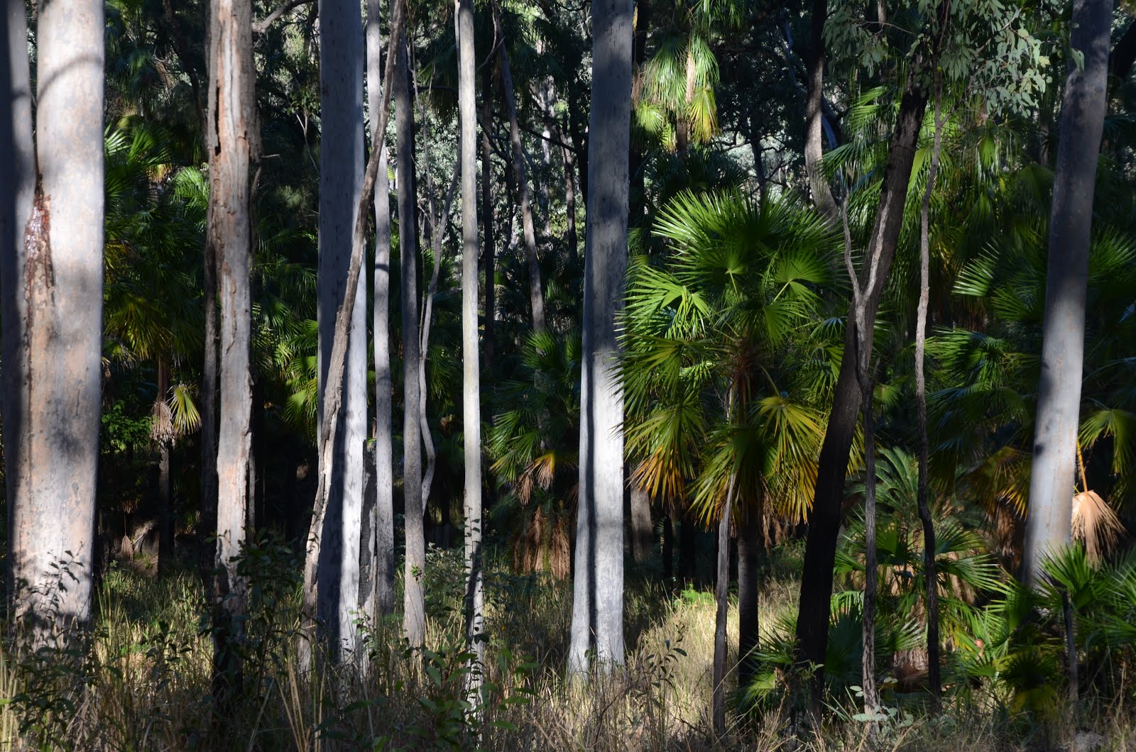
[[[258,151],[251,0],[214,0],[208,43],[208,243],[220,289],[220,426],[217,445],[215,680],[239,680],[233,641],[242,630],[245,585],[236,557],[244,542],[252,452],[251,232],[249,166]],[[225,677],[224,679],[222,677]],[[218,688],[223,688],[220,684]]]

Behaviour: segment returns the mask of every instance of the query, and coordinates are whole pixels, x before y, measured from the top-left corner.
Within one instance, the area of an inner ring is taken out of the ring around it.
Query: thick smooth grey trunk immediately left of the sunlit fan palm
[[[588,160],[603,165],[587,197],[580,366],[579,492],[568,672],[587,671],[590,637],[601,671],[624,661],[624,399],[616,317],[627,269],[630,139],[630,0],[592,3]]]

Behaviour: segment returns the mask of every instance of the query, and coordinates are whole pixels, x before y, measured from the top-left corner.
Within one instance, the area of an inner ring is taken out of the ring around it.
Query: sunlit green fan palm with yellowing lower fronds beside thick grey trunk
[[[740,551],[767,509],[808,507],[824,419],[796,383],[795,341],[822,309],[833,239],[791,201],[683,192],[654,233],[673,253],[630,275],[623,365],[627,446],[654,499],[719,524],[716,716],[724,720],[728,530]],[[743,557],[744,558],[744,557]],[[752,571],[750,562],[740,570]],[[757,645],[757,586],[740,584],[740,644]],[[743,663],[745,666],[745,663]],[[720,726],[721,724],[719,724]]]

